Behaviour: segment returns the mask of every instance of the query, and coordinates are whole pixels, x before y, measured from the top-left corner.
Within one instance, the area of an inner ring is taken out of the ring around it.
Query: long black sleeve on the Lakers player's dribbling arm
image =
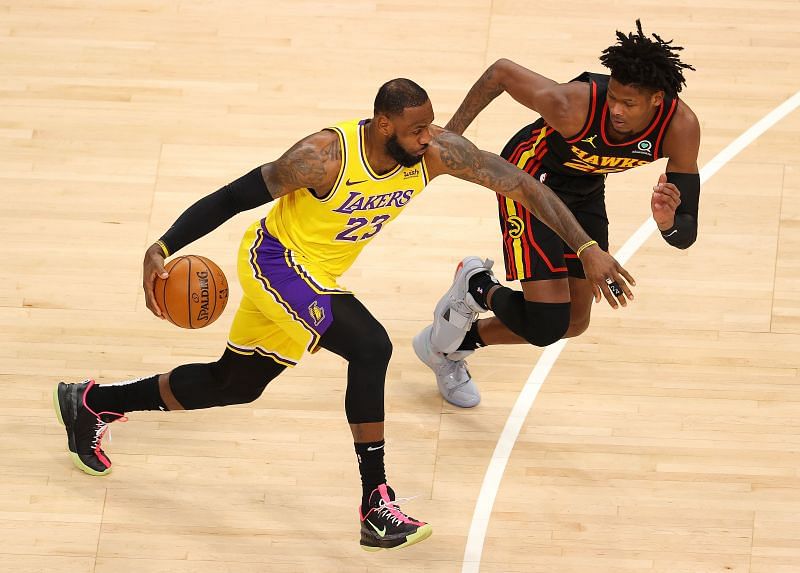
[[[242,211],[259,207],[272,201],[261,167],[256,167],[236,181],[206,195],[181,213],[166,233],[159,239],[169,256],[192,241],[207,235]]]

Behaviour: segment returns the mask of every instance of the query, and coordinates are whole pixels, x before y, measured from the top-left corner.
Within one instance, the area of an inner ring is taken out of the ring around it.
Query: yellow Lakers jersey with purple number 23
[[[330,193],[317,197],[298,189],[278,199],[266,218],[267,231],[331,278],[342,275],[361,249],[428,184],[423,158],[378,175],[365,150],[368,120],[326,128],[339,136],[342,166]]]

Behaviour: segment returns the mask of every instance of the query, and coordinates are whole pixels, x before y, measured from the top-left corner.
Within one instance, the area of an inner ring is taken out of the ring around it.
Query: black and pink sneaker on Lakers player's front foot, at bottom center
[[[433,528],[409,517],[397,506],[394,490],[382,483],[369,496],[369,510],[361,517],[361,548],[365,551],[399,549],[431,536]]]

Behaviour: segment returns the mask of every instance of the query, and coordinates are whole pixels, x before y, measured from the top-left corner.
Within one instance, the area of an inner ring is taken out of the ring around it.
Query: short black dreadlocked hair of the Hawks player
[[[637,33],[623,34],[617,31],[617,43],[603,50],[600,62],[611,70],[611,77],[624,85],[637,85],[653,90],[663,90],[675,97],[686,79],[683,70],[694,70],[678,57],[683,50],[673,46],[673,40],[665,42],[658,34],[654,40],[644,35],[641,20],[636,20]]]

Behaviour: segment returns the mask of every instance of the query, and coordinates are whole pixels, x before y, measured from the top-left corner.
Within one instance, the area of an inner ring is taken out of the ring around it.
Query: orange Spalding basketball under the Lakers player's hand
[[[214,261],[198,255],[172,259],[166,280],[156,277],[155,297],[164,317],[181,328],[203,328],[228,304],[228,280]]]

